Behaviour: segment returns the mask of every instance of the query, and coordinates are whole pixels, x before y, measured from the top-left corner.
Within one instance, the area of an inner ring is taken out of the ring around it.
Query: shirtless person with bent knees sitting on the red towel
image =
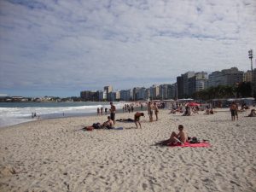
[[[178,133],[173,131],[169,139],[161,141],[160,143],[157,143],[157,144],[175,145],[177,143],[181,143],[183,145],[184,143],[188,142],[188,135],[183,130],[183,125],[178,125],[177,129],[178,129]]]

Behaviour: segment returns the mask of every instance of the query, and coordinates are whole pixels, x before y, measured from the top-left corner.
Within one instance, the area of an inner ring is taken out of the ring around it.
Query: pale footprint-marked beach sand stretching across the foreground
[[[107,116],[46,119],[0,130],[0,191],[256,191],[256,118],[229,109],[81,131]],[[133,113],[117,113],[116,119]],[[155,118],[154,118],[155,119]],[[210,148],[155,146],[177,125]]]

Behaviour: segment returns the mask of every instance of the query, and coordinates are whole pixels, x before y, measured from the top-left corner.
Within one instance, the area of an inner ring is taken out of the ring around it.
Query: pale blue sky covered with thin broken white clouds
[[[0,94],[79,96],[251,69],[255,0],[0,0]]]

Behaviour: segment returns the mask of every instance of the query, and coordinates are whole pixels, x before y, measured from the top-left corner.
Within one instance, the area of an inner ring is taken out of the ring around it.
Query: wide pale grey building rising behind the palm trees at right
[[[243,72],[239,71],[237,67],[230,69],[223,69],[209,74],[209,86],[216,87],[218,85],[234,85],[243,81]]]

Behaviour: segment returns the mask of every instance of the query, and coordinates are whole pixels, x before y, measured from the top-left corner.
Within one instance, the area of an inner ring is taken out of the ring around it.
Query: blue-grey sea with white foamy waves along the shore
[[[124,102],[113,102],[117,109]],[[96,114],[97,108],[110,108],[109,102],[0,102],[0,127],[32,120],[77,117]],[[36,114],[35,117],[33,115]]]

